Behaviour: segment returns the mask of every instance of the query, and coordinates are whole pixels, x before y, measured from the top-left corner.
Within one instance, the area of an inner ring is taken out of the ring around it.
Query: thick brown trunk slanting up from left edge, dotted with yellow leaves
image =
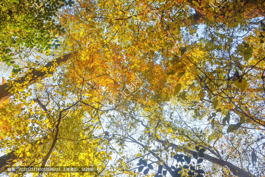
[[[45,65],[45,68],[47,68],[47,71],[37,71],[36,69],[33,69],[31,72],[27,73],[25,76],[20,77],[16,80],[14,80],[14,83],[11,84],[9,87],[8,84],[10,83],[5,83],[0,86],[0,103],[8,99],[10,96],[14,95],[16,90],[18,89],[24,89],[30,86],[31,84],[35,83],[36,81],[40,81],[44,78],[47,77],[48,74],[53,74],[53,68],[56,68],[58,65],[60,65],[63,62],[66,62],[71,58],[72,54],[66,54],[62,57],[56,58],[53,61],[48,62]],[[12,81],[13,82],[13,81]],[[9,92],[10,90],[13,90],[13,92]]]

